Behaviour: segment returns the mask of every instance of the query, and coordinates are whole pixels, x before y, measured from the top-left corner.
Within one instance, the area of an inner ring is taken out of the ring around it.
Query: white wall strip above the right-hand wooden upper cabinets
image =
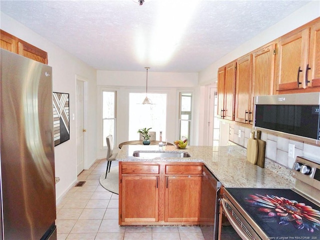
[[[217,78],[217,71],[220,66],[278,38],[281,35],[315,19],[320,16],[320,1],[311,1],[297,11],[293,12],[283,20],[277,22],[268,29],[262,31],[255,37],[241,44],[239,47],[229,52],[219,60],[213,62],[199,72],[199,84],[214,83]]]

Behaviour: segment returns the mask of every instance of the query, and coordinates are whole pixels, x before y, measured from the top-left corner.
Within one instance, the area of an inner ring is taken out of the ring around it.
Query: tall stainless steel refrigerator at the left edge
[[[50,66],[1,49],[1,239],[56,239]]]

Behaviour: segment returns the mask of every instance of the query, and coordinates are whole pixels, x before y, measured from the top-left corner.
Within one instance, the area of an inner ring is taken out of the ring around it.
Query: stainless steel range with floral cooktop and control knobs
[[[298,156],[292,176],[293,189],[223,189],[223,213],[241,239],[320,239],[320,164]]]

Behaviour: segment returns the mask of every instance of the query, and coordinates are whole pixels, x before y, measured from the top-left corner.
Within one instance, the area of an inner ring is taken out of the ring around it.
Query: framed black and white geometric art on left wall
[[[69,93],[53,92],[54,146],[70,139]]]

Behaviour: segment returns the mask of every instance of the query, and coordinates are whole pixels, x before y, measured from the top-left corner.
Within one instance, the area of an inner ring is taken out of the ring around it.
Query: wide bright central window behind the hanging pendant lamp
[[[129,140],[139,139],[136,131],[140,128],[149,128],[155,131],[156,139],[159,139],[162,131],[162,140],[165,140],[166,124],[166,94],[148,93],[152,104],[142,104],[145,93],[129,93]]]

